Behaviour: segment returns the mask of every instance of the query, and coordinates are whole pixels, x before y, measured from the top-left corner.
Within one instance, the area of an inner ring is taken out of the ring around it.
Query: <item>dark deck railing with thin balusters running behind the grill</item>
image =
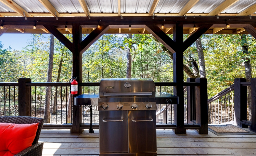
[[[100,83],[80,83],[79,85],[82,87],[83,93],[97,93],[99,92],[99,84]],[[175,94],[175,82],[155,82],[155,86],[158,92]],[[207,112],[207,107],[205,107],[207,100],[207,98],[205,98],[207,97],[207,80],[198,78],[195,80],[195,82],[184,82],[184,86],[187,86],[188,88],[195,88],[196,93],[193,94],[197,96],[197,100],[195,102],[196,111],[194,110],[194,113],[196,114],[197,119],[192,123],[187,122],[184,124],[183,121],[188,119],[187,115],[192,113],[190,112],[190,109],[187,109],[187,102],[189,101],[187,97],[188,94],[184,94],[184,97],[180,97],[180,105],[178,106],[158,106],[158,111],[160,111],[158,118],[160,119],[159,123],[157,124],[157,128],[176,130],[177,127],[183,127],[184,131],[186,129],[198,129],[200,134],[207,134],[208,127],[207,121],[205,121],[206,116],[204,116],[207,115],[207,113],[203,113]],[[18,83],[0,82],[0,115],[22,115],[43,118],[43,106],[46,100],[46,87],[51,88],[50,111],[52,112],[54,106],[53,103],[56,101],[57,105],[55,105],[54,108],[56,108],[57,112],[55,114],[51,113],[50,122],[46,122],[43,128],[74,129],[73,123],[75,121],[80,121],[80,126],[75,126],[75,128],[79,127],[80,130],[89,128],[90,111],[87,111],[88,109],[85,106],[79,108],[79,115],[75,115],[74,111],[72,111],[72,122],[67,122],[69,83],[32,83],[31,79],[29,78],[20,78]],[[8,91],[9,94],[7,94],[6,91]],[[7,97],[11,95],[13,96]],[[203,100],[205,102],[202,102]],[[74,105],[72,104],[71,106],[73,110]],[[7,109],[7,107],[9,107],[9,109]],[[161,111],[163,107],[165,107],[164,112]],[[97,119],[95,117],[98,115],[97,106],[93,106],[92,109],[93,128],[99,128]],[[180,113],[184,114],[182,119],[178,119],[176,117],[177,114]],[[177,120],[182,120],[183,124],[177,124]]]

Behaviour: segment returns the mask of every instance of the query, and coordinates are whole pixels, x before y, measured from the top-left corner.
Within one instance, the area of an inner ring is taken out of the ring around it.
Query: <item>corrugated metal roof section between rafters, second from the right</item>
[[[200,0],[188,11],[188,13],[210,13],[224,1],[225,0]]]

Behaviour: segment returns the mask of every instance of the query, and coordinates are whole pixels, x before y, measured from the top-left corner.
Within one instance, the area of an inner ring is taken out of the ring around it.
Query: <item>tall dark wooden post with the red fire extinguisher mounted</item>
[[[80,42],[82,40],[82,28],[79,24],[73,24],[73,76],[78,77],[78,93],[73,95],[73,116],[72,116],[72,130],[71,133],[82,133],[80,124],[82,122],[82,109],[79,106],[74,105],[76,96],[82,94],[82,88],[80,83],[82,82],[82,53],[80,53]]]

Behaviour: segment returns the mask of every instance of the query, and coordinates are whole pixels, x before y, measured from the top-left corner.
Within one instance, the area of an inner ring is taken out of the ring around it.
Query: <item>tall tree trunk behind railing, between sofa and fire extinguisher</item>
[[[53,51],[54,51],[54,36],[51,34],[47,82],[52,82]],[[44,120],[46,121],[46,123],[51,122],[50,121],[50,118],[51,118],[50,103],[51,103],[51,87],[46,87],[46,100],[44,102]]]

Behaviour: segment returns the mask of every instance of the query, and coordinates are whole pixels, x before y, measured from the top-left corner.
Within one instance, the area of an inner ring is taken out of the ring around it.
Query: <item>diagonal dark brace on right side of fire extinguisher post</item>
[[[85,52],[95,41],[97,41],[108,29],[110,26],[102,25],[100,28],[94,29],[81,43],[81,53]]]

